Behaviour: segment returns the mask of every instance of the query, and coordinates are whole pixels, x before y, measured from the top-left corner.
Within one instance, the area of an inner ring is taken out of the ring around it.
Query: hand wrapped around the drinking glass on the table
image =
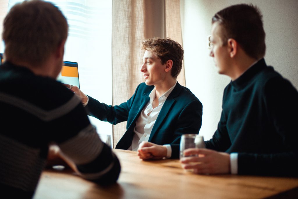
[[[197,174],[227,174],[230,169],[230,155],[210,149],[185,149],[184,155],[198,155],[180,159],[182,168],[194,169]],[[196,164],[194,164],[196,163]]]

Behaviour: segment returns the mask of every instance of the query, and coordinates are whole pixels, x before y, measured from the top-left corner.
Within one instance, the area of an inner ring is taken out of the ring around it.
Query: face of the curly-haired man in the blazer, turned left
[[[146,50],[141,66],[146,85],[157,86],[163,84],[166,77],[165,67],[166,64],[162,64],[161,59],[155,53]]]

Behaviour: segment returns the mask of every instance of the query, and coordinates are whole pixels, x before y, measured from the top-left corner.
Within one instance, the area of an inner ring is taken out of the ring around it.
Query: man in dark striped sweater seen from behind
[[[55,79],[68,25],[53,4],[24,1],[4,19],[0,67],[0,190],[32,198],[49,145],[57,144],[79,175],[113,183],[120,164],[90,124],[81,100]]]

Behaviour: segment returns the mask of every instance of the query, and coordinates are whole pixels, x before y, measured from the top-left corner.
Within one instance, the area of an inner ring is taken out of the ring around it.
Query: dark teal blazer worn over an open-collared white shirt
[[[127,121],[126,132],[116,145],[116,149],[128,149],[134,136],[134,127],[141,111],[148,104],[149,94],[154,86],[141,83],[134,95],[117,106],[108,106],[89,97],[86,106],[88,115],[111,124]],[[172,157],[179,157],[179,144],[182,134],[198,134],[202,124],[202,103],[186,87],[178,82],[167,97],[151,131],[149,142],[172,147]]]

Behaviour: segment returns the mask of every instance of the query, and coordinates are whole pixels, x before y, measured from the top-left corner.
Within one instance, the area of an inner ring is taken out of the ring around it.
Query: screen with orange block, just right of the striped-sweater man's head
[[[57,77],[57,81],[80,88],[77,62],[63,61],[62,70]]]

